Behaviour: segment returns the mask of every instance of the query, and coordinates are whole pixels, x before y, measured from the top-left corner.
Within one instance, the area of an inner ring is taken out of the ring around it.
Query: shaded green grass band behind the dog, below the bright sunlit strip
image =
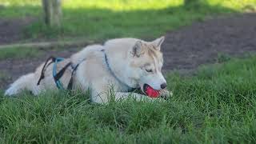
[[[6,14],[5,14],[6,10]],[[11,13],[10,11],[14,11]],[[162,10],[113,11],[107,9],[64,9],[61,28],[49,28],[42,22],[39,6],[6,7],[1,15],[31,16],[37,22],[26,26],[25,38],[89,38],[99,41],[107,38],[136,37],[150,39],[179,26],[202,21],[206,16],[237,12],[223,6],[210,6],[206,2],[168,7]]]

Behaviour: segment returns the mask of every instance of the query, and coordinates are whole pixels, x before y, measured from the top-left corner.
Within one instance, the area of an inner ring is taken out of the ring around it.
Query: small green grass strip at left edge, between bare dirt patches
[[[42,50],[32,47],[14,46],[0,49],[0,60],[5,60],[7,58],[38,58],[40,55],[42,55],[42,53]]]

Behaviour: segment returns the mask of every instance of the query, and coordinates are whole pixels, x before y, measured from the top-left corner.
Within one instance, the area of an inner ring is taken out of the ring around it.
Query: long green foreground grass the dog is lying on
[[[255,56],[202,66],[193,77],[169,74],[174,96],[166,102],[2,97],[0,143],[255,143],[255,74]]]

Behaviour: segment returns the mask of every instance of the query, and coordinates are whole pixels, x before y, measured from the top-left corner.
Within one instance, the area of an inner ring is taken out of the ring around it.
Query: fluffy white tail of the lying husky
[[[12,83],[9,89],[6,90],[5,95],[14,95],[22,92],[22,90],[30,90],[33,93],[36,91],[36,79],[34,78],[34,74],[26,74],[23,75],[21,78],[18,78],[14,83]]]

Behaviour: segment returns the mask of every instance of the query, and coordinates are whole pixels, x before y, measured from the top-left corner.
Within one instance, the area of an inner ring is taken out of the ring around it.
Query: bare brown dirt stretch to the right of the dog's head
[[[196,22],[166,34],[165,69],[194,69],[216,62],[218,54],[256,51],[256,14]]]

